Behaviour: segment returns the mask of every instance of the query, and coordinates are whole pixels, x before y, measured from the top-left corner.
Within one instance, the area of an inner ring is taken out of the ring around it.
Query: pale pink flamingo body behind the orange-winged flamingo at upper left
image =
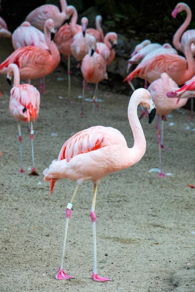
[[[26,46],[39,46],[43,50],[49,50],[44,34],[28,21],[22,22],[13,32],[12,45],[14,50]]]

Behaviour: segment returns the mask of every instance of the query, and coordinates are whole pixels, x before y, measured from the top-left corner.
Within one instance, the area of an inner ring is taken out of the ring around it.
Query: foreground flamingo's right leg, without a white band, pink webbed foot
[[[92,278],[94,281],[98,281],[98,282],[112,281],[112,279],[109,279],[107,277],[100,277],[97,274],[96,213],[95,213],[96,196],[97,196],[97,185],[94,184],[92,208],[91,208],[91,213],[90,213],[90,217],[92,220],[92,233],[93,233],[93,245],[94,245],[94,267],[93,267]]]

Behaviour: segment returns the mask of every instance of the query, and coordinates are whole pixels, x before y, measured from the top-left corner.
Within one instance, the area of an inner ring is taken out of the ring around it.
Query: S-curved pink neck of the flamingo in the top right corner
[[[177,29],[173,38],[173,44],[175,48],[181,52],[182,52],[182,47],[181,47],[180,38],[182,34],[184,33],[184,31],[186,30],[186,28],[188,27],[188,25],[190,24],[190,21],[192,19],[192,12],[190,10],[190,7],[187,4],[185,5],[184,11],[186,11],[186,19],[183,22],[183,24]]]

